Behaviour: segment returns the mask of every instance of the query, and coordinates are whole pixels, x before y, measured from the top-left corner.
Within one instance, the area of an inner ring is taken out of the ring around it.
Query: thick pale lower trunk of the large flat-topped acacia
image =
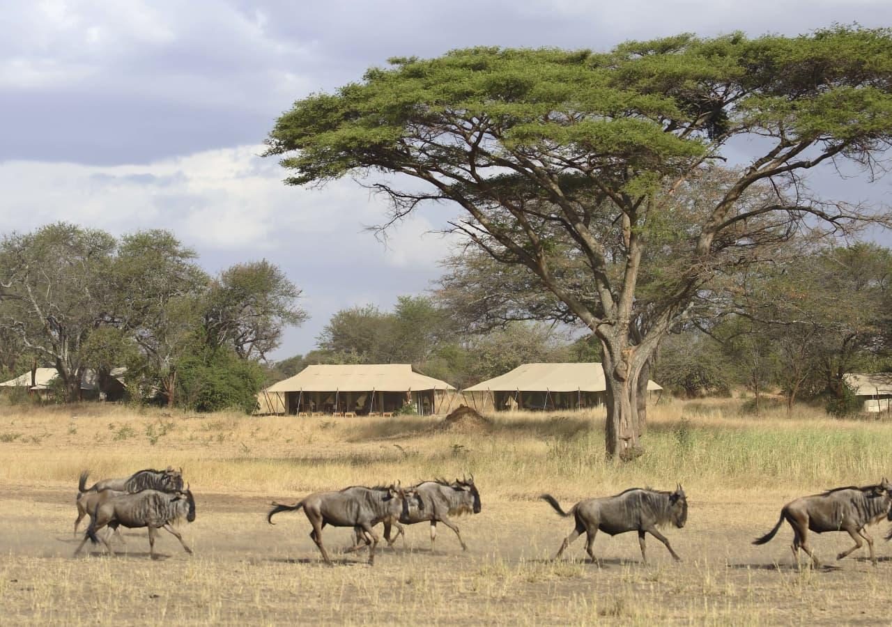
[[[616,342],[618,346],[613,347],[603,339],[601,342],[604,345],[601,365],[607,387],[607,458],[628,461],[643,452],[638,441],[637,373],[630,363],[632,351],[625,349],[624,342]]]

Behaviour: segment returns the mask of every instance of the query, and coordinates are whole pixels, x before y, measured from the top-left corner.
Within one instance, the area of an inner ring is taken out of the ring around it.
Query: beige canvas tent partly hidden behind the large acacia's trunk
[[[648,392],[662,389],[648,381]],[[478,410],[576,409],[603,405],[607,385],[598,362],[523,364],[463,392]]]

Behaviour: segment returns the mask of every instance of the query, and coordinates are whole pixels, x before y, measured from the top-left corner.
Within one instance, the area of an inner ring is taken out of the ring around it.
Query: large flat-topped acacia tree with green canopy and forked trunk
[[[802,175],[834,160],[871,166],[887,147],[886,29],[681,35],[607,53],[472,48],[391,63],[295,103],[267,154],[293,170],[291,185],[389,173],[371,185],[391,199],[392,219],[452,202],[471,242],[530,268],[602,344],[609,457],[640,451],[641,371],[715,272],[806,226],[877,219],[809,197]],[[676,192],[740,136],[757,139],[747,163],[700,219],[676,228]],[[741,204],[763,182],[773,194]],[[558,231],[569,249],[555,245]],[[680,256],[642,304],[642,260],[667,239]],[[585,264],[585,285],[556,276],[567,255]]]

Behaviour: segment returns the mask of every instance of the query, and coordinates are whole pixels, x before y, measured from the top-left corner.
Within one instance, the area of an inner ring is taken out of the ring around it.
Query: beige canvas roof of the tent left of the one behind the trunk
[[[409,392],[455,390],[450,384],[419,375],[409,364],[308,366],[297,375],[279,381],[267,392]]]

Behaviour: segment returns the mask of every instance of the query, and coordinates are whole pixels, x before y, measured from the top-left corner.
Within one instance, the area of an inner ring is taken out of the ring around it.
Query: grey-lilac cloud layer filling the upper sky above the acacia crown
[[[394,55],[467,45],[607,49],[681,30],[796,33],[832,21],[892,23],[892,5],[868,0],[204,0],[136,3],[138,11],[74,4],[52,19],[39,6],[4,10],[4,31],[14,36],[0,41],[0,56],[37,68],[58,64],[62,75],[37,86],[7,82],[0,160],[145,163],[257,143],[294,99],[334,89]]]

